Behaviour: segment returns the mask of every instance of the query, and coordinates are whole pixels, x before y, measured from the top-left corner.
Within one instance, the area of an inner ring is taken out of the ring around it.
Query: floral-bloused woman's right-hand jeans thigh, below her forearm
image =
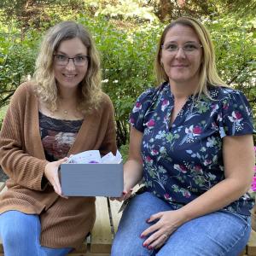
[[[228,211],[212,212],[179,227],[156,255],[239,255],[250,230],[249,217]]]

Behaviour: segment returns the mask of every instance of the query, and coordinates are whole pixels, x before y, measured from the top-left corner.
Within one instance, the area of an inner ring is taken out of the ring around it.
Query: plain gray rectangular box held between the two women
[[[123,164],[62,164],[62,194],[67,196],[114,196],[124,189]]]

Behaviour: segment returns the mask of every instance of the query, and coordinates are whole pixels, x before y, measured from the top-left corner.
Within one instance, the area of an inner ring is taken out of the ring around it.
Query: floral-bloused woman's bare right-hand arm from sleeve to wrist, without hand
[[[253,137],[224,137],[223,156],[225,179],[182,208],[185,221],[226,207],[250,188],[255,160]]]

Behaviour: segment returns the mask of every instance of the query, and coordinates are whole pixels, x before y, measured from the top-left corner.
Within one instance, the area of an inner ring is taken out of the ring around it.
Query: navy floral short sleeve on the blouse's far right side
[[[246,96],[239,90],[224,90],[219,103],[220,137],[253,134],[253,113]]]

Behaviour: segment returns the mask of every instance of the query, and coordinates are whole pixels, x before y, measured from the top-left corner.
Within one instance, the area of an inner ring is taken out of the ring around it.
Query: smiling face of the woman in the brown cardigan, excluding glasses
[[[78,55],[87,55],[87,47],[79,38],[67,39],[61,42],[59,48],[55,51],[55,55],[67,55],[75,57]],[[54,74],[56,83],[60,90],[77,89],[79,83],[86,75],[88,62],[83,67],[74,65],[72,59],[69,59],[67,65],[60,66],[54,61]]]

